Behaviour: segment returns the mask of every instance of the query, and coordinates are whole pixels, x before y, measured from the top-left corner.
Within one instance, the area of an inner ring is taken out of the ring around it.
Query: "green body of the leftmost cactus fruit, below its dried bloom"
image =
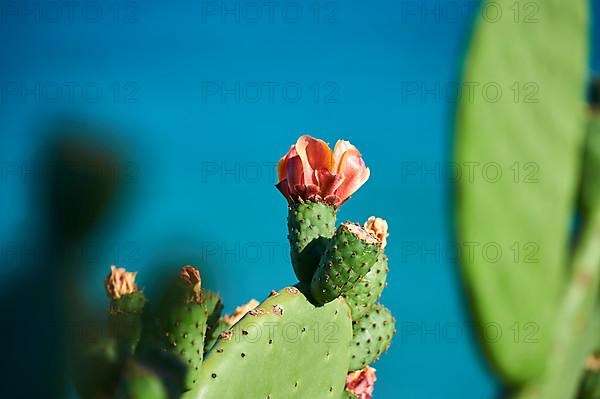
[[[108,308],[108,328],[120,350],[133,354],[142,335],[142,314],[146,297],[141,291],[112,299]]]

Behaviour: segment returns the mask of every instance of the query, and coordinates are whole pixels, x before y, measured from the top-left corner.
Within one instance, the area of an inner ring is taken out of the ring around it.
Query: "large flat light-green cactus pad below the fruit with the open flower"
[[[184,399],[338,399],[351,335],[343,300],[315,307],[284,288],[222,334]]]

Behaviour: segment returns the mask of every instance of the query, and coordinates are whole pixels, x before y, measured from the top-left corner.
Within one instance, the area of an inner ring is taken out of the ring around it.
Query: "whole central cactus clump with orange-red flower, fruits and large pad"
[[[385,288],[387,223],[336,227],[337,209],[369,177],[348,141],[333,151],[302,136],[278,165],[288,201],[291,259],[299,279],[262,303],[222,315],[221,297],[182,267],[148,301],[136,273],[111,268],[105,286],[112,332],[84,357],[84,397],[162,399],[370,399],[369,365],[388,349],[394,318],[378,299]],[[104,355],[104,357],[103,357]],[[107,359],[108,357],[108,359]]]

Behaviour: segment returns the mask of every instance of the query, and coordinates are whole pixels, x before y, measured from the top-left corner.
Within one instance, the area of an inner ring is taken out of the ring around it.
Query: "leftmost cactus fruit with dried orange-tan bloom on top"
[[[111,266],[105,280],[106,292],[111,298],[108,309],[108,327],[114,334],[119,351],[129,354],[135,348],[142,334],[142,312],[146,304],[144,293],[138,291],[135,283],[137,273],[124,268]]]

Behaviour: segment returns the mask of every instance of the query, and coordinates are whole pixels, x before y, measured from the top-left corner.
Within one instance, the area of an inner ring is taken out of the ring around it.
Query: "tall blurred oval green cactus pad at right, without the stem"
[[[515,4],[494,1],[498,10]],[[461,266],[478,331],[491,324],[520,329],[518,339],[481,337],[511,385],[544,372],[555,326],[565,324],[555,317],[585,140],[590,2],[534,4],[531,18],[518,23],[478,14],[463,72],[465,87],[477,94],[459,96],[456,115],[458,238],[461,248],[478,245]],[[490,244],[502,255],[486,253]],[[532,331],[523,326],[535,327],[532,339],[523,339]]]

